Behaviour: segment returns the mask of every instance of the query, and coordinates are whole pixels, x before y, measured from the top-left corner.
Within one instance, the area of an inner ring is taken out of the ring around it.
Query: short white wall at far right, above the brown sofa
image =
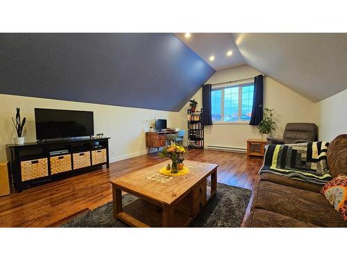
[[[347,89],[314,104],[319,122],[319,140],[332,141],[347,134]]]

